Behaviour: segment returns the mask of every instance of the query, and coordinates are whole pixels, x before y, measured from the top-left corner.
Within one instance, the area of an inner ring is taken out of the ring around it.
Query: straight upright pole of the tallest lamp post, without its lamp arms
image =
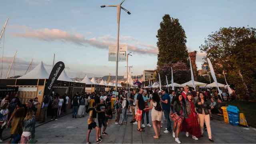
[[[119,56],[119,26],[120,26],[120,5],[117,6],[117,38],[116,38],[116,91],[118,82],[118,56]]]

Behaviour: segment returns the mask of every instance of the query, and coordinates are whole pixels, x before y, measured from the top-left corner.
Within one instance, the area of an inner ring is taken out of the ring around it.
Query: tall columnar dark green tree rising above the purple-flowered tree
[[[169,14],[163,16],[160,29],[157,32],[158,62],[160,68],[164,64],[187,62],[188,50],[186,48],[186,34],[177,18]]]

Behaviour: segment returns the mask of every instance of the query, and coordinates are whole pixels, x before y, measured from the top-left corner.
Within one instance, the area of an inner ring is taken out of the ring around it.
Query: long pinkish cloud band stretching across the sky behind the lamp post
[[[47,42],[52,41],[61,41],[61,42],[71,42],[80,46],[93,46],[100,49],[108,49],[109,45],[115,45],[115,38],[110,35],[101,36],[99,38],[90,38],[86,39],[82,34],[70,34],[66,31],[59,29],[37,29],[28,28],[26,26],[20,27],[24,32],[12,33],[13,36],[21,38],[32,38],[37,40],[43,40]],[[135,40],[131,36],[122,36],[123,40]],[[121,39],[121,41],[122,41]],[[127,44],[121,42],[121,44]],[[138,54],[148,54],[148,55],[157,55],[158,49],[155,46],[148,44],[138,44],[140,48],[134,44],[127,44],[128,51],[132,51]]]

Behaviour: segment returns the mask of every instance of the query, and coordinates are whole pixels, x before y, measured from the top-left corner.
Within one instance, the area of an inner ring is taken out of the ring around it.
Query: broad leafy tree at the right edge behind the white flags
[[[210,58],[216,74],[225,71],[229,84],[235,84],[237,93],[247,98],[248,89],[255,87],[255,37],[255,28],[220,28],[208,35],[204,45],[200,46],[207,53],[206,57]]]

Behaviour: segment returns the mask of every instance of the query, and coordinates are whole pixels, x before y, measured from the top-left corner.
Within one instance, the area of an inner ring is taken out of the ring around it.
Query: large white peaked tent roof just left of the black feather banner
[[[40,62],[33,70],[19,77],[18,79],[48,79],[48,72],[46,71],[43,62]]]

